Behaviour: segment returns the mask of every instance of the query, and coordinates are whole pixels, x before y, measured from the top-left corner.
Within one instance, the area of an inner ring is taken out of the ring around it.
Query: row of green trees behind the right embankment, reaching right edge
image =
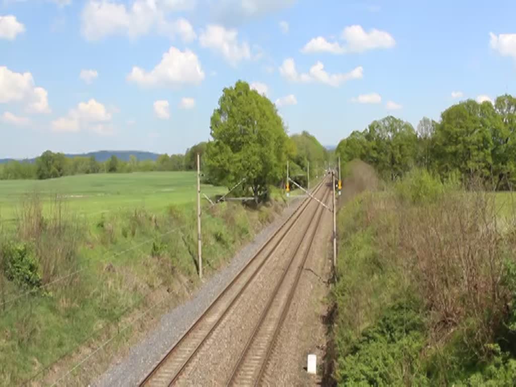
[[[463,101],[444,110],[440,121],[425,117],[415,129],[385,117],[352,132],[336,154],[342,163],[362,159],[389,180],[420,167],[443,179],[477,176],[494,189],[508,189],[516,183],[516,98]]]

